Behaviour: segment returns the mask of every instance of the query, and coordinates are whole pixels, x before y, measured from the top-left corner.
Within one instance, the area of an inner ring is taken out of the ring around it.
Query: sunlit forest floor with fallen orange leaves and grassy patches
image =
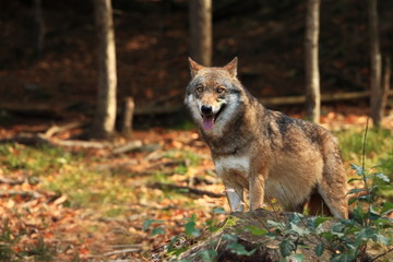
[[[366,121],[365,111],[356,108],[322,117],[341,142],[348,176],[349,163],[361,162]],[[45,132],[51,124],[1,128],[0,139]],[[369,130],[366,167],[382,165],[381,171],[393,178],[393,120],[384,124]],[[57,139],[82,131],[68,130]],[[142,144],[122,154],[0,144],[0,261],[152,261],[184,233],[187,222],[205,228],[225,218],[224,187],[195,130],[153,128],[134,131],[130,141]],[[385,192],[384,198],[392,196]]]

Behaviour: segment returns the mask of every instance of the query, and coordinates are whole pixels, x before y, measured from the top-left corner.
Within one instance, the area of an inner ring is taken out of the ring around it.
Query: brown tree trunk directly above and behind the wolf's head
[[[191,58],[212,63],[212,0],[190,0]]]

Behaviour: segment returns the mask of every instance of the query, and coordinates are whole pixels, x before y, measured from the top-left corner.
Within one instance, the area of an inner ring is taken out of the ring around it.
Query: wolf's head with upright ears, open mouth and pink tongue
[[[236,78],[237,58],[222,68],[205,68],[189,58],[191,82],[184,103],[206,132],[222,129],[239,114],[243,88]]]

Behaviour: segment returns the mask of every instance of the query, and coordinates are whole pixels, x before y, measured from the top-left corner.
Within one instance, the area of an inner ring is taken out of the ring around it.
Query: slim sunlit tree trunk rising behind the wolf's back
[[[320,75],[318,60],[319,12],[321,0],[308,0],[306,17],[306,96],[307,117],[319,123],[321,114]]]

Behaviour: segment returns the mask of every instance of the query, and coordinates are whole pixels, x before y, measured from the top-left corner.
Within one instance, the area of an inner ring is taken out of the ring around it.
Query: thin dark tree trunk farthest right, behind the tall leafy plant
[[[376,127],[381,124],[383,117],[382,107],[382,62],[379,45],[378,2],[368,1],[369,34],[370,34],[370,116]]]

